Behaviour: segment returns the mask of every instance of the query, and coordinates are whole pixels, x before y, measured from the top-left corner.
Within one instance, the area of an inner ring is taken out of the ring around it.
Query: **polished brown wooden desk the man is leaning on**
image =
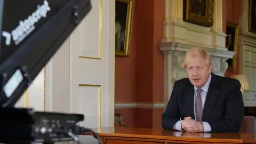
[[[93,130],[99,133],[104,144],[256,143],[254,133],[188,133],[132,127],[101,127]]]

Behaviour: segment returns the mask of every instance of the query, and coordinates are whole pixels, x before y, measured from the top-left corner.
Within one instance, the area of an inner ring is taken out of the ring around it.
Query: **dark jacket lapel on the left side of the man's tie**
[[[189,83],[187,91],[185,91],[185,106],[186,111],[188,115],[185,115],[185,117],[191,116],[192,119],[195,119],[195,113],[194,113],[194,86]]]

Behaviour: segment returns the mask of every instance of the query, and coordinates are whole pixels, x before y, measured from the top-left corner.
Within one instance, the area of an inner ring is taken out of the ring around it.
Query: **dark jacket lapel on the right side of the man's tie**
[[[206,100],[204,103],[204,111],[203,111],[203,122],[207,122],[209,120],[209,116],[212,113],[212,109],[215,105],[216,100],[219,97],[219,85],[217,81],[217,76],[215,74],[212,74],[211,83],[206,95]]]

